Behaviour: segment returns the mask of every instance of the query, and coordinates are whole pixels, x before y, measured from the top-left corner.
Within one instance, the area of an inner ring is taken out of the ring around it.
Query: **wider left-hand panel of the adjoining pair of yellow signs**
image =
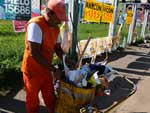
[[[87,1],[83,19],[89,22],[100,22],[101,11],[102,3]]]

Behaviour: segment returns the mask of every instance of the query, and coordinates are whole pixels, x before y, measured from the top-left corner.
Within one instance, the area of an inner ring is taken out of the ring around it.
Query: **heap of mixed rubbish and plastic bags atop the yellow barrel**
[[[110,95],[109,82],[114,79],[111,76],[113,69],[107,66],[105,63],[86,63],[82,65],[80,69],[70,69],[65,63],[66,56],[63,56],[63,67],[65,81],[79,88],[93,88],[97,89],[98,92],[103,92],[103,94]],[[55,89],[59,87],[59,80],[55,85]]]

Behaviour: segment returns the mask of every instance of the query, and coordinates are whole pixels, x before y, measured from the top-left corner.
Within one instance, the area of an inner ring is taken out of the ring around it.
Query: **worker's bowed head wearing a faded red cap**
[[[46,7],[46,20],[50,25],[58,25],[68,21],[64,0],[49,0]]]

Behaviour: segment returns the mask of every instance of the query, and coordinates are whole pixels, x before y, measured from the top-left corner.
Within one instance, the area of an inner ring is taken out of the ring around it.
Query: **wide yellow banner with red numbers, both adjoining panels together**
[[[86,1],[83,19],[89,22],[113,22],[114,6],[96,1]]]

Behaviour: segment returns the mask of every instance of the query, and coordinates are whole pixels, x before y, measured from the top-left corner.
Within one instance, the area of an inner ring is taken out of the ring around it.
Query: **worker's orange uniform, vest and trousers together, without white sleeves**
[[[29,23],[36,23],[42,30],[41,53],[52,63],[55,43],[59,34],[59,28],[48,26],[43,16],[32,18]],[[27,25],[28,25],[27,24]],[[21,70],[26,90],[26,107],[28,113],[39,113],[38,94],[41,91],[46,107],[50,113],[54,111],[55,96],[52,73],[48,68],[39,64],[30,54],[28,45],[28,32],[26,33],[26,47],[23,56]]]

